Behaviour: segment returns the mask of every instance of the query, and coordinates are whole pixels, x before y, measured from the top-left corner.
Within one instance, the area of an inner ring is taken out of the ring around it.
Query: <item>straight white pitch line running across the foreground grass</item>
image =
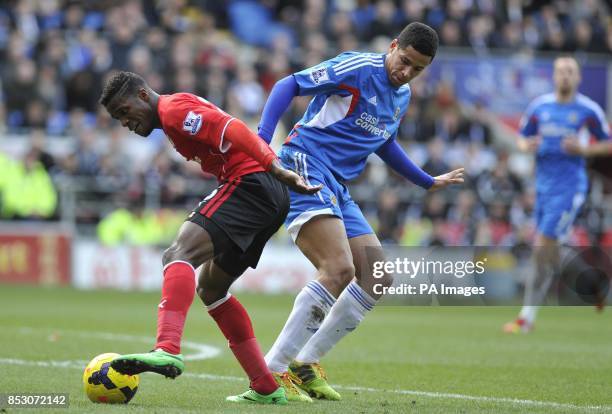
[[[0,358],[0,364],[7,365],[26,365],[26,366],[38,366],[38,367],[50,367],[50,368],[76,368],[79,370],[83,369],[83,364],[80,364],[79,361],[28,361],[23,359],[15,359],[15,358]],[[229,375],[215,375],[215,374],[196,374],[191,372],[186,372],[182,375],[183,377],[189,378],[198,378],[205,380],[213,380],[213,381],[240,381],[246,382],[246,378],[243,377],[234,377]],[[439,398],[439,399],[456,399],[456,400],[467,400],[467,401],[480,401],[480,402],[490,402],[490,403],[503,403],[503,404],[513,404],[513,405],[522,405],[522,406],[531,406],[531,407],[546,407],[546,408],[554,408],[554,409],[571,409],[571,410],[590,410],[590,411],[610,411],[612,410],[612,406],[606,405],[576,405],[569,403],[558,403],[554,401],[537,401],[537,400],[524,400],[518,398],[507,398],[507,397],[484,397],[478,395],[465,395],[465,394],[450,394],[443,392],[429,392],[429,391],[413,391],[413,390],[393,390],[393,389],[379,389],[379,388],[370,388],[370,387],[358,387],[352,385],[333,385],[338,389],[343,389],[347,391],[361,391],[361,392],[384,392],[390,394],[403,394],[403,395],[414,395],[418,397],[427,397],[427,398]]]

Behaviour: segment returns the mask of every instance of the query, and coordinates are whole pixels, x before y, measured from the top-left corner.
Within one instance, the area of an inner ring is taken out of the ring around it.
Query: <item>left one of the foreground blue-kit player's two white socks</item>
[[[300,349],[319,329],[336,299],[316,280],[308,282],[295,298],[293,310],[276,342],[266,354],[272,372],[286,372]]]

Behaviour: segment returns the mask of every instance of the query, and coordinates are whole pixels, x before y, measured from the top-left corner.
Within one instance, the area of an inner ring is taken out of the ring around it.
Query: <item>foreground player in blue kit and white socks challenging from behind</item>
[[[269,142],[293,97],[314,96],[280,158],[308,183],[324,186],[314,196],[291,193],[285,222],[318,271],[296,297],[266,355],[290,400],[311,400],[292,380],[311,396],[340,399],[327,384],[319,359],[357,327],[378,299],[371,290],[371,263],[384,259],[382,248],[344,182],[363,171],[372,153],[425,189],[463,182],[462,168],[431,177],[395,140],[410,101],[408,82],[431,63],[437,46],[432,28],[412,23],[386,54],[347,52],[280,80],[265,105],[259,134]],[[376,282],[389,284],[390,277]]]

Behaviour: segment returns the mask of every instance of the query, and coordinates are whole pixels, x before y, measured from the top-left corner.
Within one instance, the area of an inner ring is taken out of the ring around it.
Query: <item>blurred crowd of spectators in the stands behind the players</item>
[[[142,75],[161,93],[192,92],[256,129],[274,83],[345,50],[384,52],[412,21],[433,26],[442,49],[490,54],[612,53],[603,0],[14,0],[0,5],[0,215],[64,220],[105,243],[167,244],[188,209],[216,182],[98,105],[112,70]],[[434,61],[435,64],[435,61]],[[351,184],[381,240],[408,245],[531,243],[531,164],[485,102],[461,102],[453,85],[412,84],[398,139],[431,175],[465,166],[465,186],[426,193],[373,157]],[[299,98],[275,144],[303,113]],[[508,139],[510,138],[510,139]],[[1,142],[0,142],[1,143]],[[0,146],[1,148],[1,146]],[[516,165],[522,168],[515,168]],[[612,245],[612,212],[592,191],[574,241]]]

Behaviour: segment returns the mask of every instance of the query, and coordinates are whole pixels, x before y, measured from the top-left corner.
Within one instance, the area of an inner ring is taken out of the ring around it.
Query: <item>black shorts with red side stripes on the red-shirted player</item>
[[[212,238],[215,263],[231,276],[256,267],[289,212],[287,187],[265,172],[219,185],[189,214]]]

